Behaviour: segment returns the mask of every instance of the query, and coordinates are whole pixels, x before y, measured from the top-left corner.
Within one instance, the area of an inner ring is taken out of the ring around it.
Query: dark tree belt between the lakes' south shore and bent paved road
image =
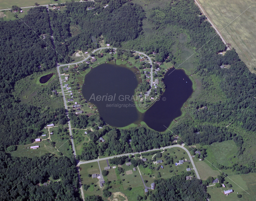
[[[83,144],[83,151],[81,156],[77,156],[78,159],[91,160],[98,158],[99,155],[111,156],[146,151],[161,146],[168,146],[170,145],[170,141],[172,141],[172,135],[170,133],[161,135],[157,131],[144,127],[119,130],[115,128],[109,129],[109,127],[104,126],[99,131],[87,132],[90,141]],[[106,142],[99,142],[100,137],[103,137]],[[128,144],[129,139],[131,139],[130,145]]]

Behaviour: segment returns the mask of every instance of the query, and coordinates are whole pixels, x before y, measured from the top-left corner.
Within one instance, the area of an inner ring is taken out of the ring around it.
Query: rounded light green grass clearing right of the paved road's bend
[[[209,146],[206,152],[206,159],[210,162],[218,162],[225,166],[231,166],[232,163],[237,162],[237,158],[234,158],[237,147],[232,140],[214,142]]]

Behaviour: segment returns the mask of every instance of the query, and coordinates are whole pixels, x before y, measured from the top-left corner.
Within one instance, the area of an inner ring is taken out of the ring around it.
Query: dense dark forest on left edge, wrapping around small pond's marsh
[[[32,138],[40,135],[39,131],[47,123],[58,123],[65,118],[62,106],[48,108],[48,103],[42,99],[38,101],[40,104],[29,104],[22,102],[21,97],[12,95],[16,82],[40,71],[37,68],[39,65],[44,70],[55,66],[48,19],[46,8],[37,7],[29,10],[23,18],[35,32],[22,21],[0,21],[0,149],[30,143]],[[37,34],[46,34],[45,39],[40,39]],[[48,96],[52,95],[51,90],[51,87],[46,89]],[[46,91],[41,88],[35,93],[39,95]]]

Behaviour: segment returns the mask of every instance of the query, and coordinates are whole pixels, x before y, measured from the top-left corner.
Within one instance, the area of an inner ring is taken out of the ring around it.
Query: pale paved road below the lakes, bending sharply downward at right
[[[160,149],[162,149],[162,150],[163,150],[163,149],[170,149],[170,148],[173,148],[173,147],[178,147],[178,148],[180,148],[180,149],[184,149],[184,150],[187,152],[187,154],[189,155],[189,159],[190,159],[190,161],[191,161],[191,164],[192,164],[192,166],[193,166],[193,169],[195,170],[195,174],[197,175],[197,178],[200,179],[200,176],[199,176],[199,174],[198,174],[198,172],[197,172],[197,168],[195,167],[195,163],[194,163],[194,161],[193,161],[193,159],[192,159],[192,157],[191,157],[189,151],[188,151],[185,147],[183,147],[183,146],[181,146],[181,145],[165,146],[165,147],[161,147],[161,148],[159,148],[159,149],[151,149],[151,150],[141,151],[141,152],[136,152],[136,153],[120,154],[120,155],[117,155],[117,156],[106,157],[106,158],[102,158],[102,159],[94,159],[94,160],[90,160],[90,161],[80,161],[80,162],[77,164],[77,166],[80,166],[80,164],[86,164],[86,163],[98,162],[98,161],[102,161],[102,160],[106,160],[106,159],[112,159],[112,158],[114,158],[114,157],[128,156],[128,155],[130,155],[130,154],[133,154],[133,155],[134,155],[134,154],[141,154],[141,153],[145,153],[145,152],[149,152],[149,151],[156,151],[156,150],[160,150]]]

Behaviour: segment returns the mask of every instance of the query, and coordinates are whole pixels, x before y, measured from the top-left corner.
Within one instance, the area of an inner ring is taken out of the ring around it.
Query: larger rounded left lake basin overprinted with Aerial
[[[124,127],[138,120],[139,112],[132,105],[134,90],[139,83],[135,73],[134,69],[104,63],[85,76],[83,97],[96,105],[107,124]]]

